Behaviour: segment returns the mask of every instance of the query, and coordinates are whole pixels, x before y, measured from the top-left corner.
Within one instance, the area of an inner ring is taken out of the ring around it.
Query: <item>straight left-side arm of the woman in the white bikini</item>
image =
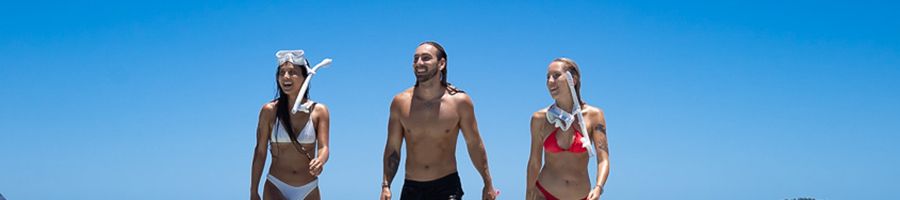
[[[259,199],[259,180],[263,166],[266,164],[266,150],[269,148],[269,133],[275,118],[275,106],[272,103],[263,105],[259,111],[259,123],[256,125],[256,147],[253,150],[253,164],[250,169],[250,199]]]

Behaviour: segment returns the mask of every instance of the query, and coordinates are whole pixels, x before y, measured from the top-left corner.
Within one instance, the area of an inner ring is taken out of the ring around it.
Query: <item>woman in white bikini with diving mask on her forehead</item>
[[[278,51],[276,57],[278,96],[259,113],[250,199],[260,199],[259,181],[267,152],[272,152],[272,163],[263,199],[320,199],[318,176],[328,161],[328,108],[309,100],[308,93],[301,91],[301,83],[312,72],[303,50]],[[301,92],[303,96],[298,97]],[[291,108],[296,102],[301,106],[295,113]]]

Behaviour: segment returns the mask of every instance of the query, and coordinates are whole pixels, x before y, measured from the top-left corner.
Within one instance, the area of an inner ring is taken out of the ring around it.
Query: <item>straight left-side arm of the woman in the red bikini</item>
[[[543,133],[541,133],[541,123],[544,122],[546,113],[541,113],[540,111],[535,112],[534,115],[531,116],[531,147],[530,153],[528,156],[528,174],[525,178],[525,199],[537,199],[537,190],[535,188],[535,182],[537,181],[538,174],[541,172],[541,165],[543,162],[542,155],[544,154],[544,149],[541,143],[544,140]]]

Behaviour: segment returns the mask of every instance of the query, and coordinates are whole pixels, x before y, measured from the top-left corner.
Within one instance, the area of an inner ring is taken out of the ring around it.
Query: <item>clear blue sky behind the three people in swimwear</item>
[[[560,56],[606,112],[604,199],[900,199],[892,1],[3,4],[11,200],[246,199],[279,49],[334,58],[311,90],[332,112],[320,186],[374,199],[390,99],[425,40],[476,103],[503,199],[523,197],[529,116],[551,103],[543,78]]]

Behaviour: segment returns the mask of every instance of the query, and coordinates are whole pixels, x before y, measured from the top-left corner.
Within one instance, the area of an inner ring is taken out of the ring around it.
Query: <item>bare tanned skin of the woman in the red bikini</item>
[[[573,99],[569,86],[566,83],[566,71],[562,62],[552,62],[547,70],[547,89],[556,101],[556,106],[563,110],[572,111]],[[547,109],[535,112],[531,117],[531,153],[528,159],[528,177],[526,185],[526,199],[545,199],[544,195],[535,187],[535,181],[540,181],[544,188],[559,199],[600,199],[603,185],[609,176],[609,148],[606,141],[606,119],[603,110],[597,107],[583,104],[582,114],[587,122],[586,127],[589,136],[594,143],[597,152],[597,177],[598,184],[591,185],[588,175],[589,154],[573,154],[569,152],[544,153],[544,140],[556,128],[547,122]],[[567,131],[560,130],[556,133],[557,145],[564,149],[572,148],[573,135],[578,124],[573,124]],[[542,159],[543,158],[543,159]]]

